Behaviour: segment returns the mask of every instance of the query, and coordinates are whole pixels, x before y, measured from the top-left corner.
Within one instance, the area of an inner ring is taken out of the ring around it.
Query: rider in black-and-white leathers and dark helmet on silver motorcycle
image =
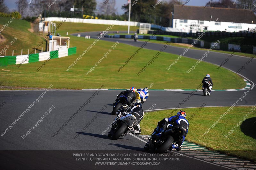
[[[140,135],[140,133],[141,133],[140,121],[143,119],[143,116],[144,116],[142,104],[135,103],[130,112],[124,112],[124,113],[132,114],[136,117],[136,120],[134,121],[134,124],[133,124],[133,129],[130,133],[135,134],[135,135]]]

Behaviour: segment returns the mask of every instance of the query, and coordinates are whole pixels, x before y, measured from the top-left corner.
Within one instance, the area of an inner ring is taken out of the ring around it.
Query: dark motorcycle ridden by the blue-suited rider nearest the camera
[[[184,132],[179,127],[172,126],[172,128],[166,130],[161,137],[156,136],[156,129],[144,146],[146,151],[151,150],[156,153],[164,153],[171,147],[172,143],[183,139]]]

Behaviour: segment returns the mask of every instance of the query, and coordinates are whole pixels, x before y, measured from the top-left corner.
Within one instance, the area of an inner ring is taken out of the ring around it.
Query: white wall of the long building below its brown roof
[[[176,27],[175,27],[176,23]],[[208,31],[227,31],[227,32],[239,32],[252,29],[256,27],[256,24],[245,24],[245,23],[233,23],[233,22],[220,22],[220,25],[215,25],[214,21],[204,21],[204,24],[199,24],[198,20],[188,20],[188,23],[180,23],[180,19],[173,19],[173,28],[181,29],[182,32],[191,32],[190,25],[196,24],[200,25],[192,32],[203,31],[205,27],[208,27]],[[241,26],[242,28],[229,28],[228,26]]]

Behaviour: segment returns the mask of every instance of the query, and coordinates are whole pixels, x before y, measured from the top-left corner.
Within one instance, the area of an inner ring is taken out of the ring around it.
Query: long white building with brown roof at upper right
[[[251,10],[174,5],[172,28],[182,32],[239,32],[256,28],[256,15]]]

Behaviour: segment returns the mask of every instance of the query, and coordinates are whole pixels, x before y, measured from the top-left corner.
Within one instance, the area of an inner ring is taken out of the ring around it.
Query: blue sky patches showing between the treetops
[[[10,11],[13,9],[16,9],[16,2],[17,0],[5,0],[5,4],[8,6]],[[96,0],[97,4],[103,3],[103,0]],[[184,0],[183,0],[184,1]],[[209,0],[189,0],[189,2],[186,5],[191,5],[191,6],[204,6]],[[123,14],[124,11],[121,9],[122,5],[126,4],[127,0],[116,0],[116,8],[117,8],[117,13],[118,14]]]

